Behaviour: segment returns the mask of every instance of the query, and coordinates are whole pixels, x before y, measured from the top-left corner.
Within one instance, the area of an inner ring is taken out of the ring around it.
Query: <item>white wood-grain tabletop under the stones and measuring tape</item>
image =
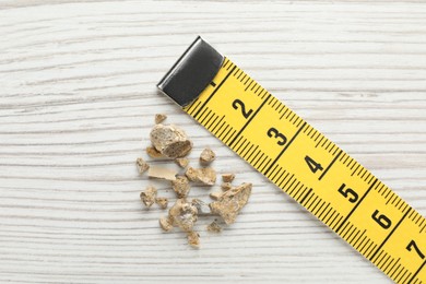
[[[3,0],[1,283],[390,283],[156,92],[197,35],[426,213],[426,3]],[[139,200],[155,113],[255,185],[199,250]]]

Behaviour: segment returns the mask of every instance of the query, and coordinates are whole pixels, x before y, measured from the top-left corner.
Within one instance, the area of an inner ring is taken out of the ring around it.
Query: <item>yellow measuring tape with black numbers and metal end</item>
[[[426,282],[426,220],[203,39],[159,90],[397,283]]]

